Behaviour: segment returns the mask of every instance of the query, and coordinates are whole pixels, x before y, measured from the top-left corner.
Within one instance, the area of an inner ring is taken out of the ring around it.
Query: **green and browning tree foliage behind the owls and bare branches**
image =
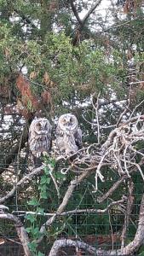
[[[99,117],[102,144],[124,109],[130,110],[124,115],[124,119],[128,119],[135,105],[143,100],[142,2],[118,1],[107,7],[106,15],[99,11],[99,7],[103,8],[101,5],[98,4],[93,11],[91,7],[91,1],[0,1],[0,149],[4,154],[0,160],[1,195],[12,189],[32,166],[27,137],[28,127],[35,116],[51,119],[55,139],[58,116],[66,112],[76,114],[86,147],[98,142],[95,111]],[[86,20],[80,18],[83,13],[87,15]],[[98,103],[98,109],[91,106],[92,96],[93,105]],[[142,104],[135,109],[135,115],[139,113],[143,113]],[[143,145],[140,143],[136,147],[140,149]],[[21,207],[25,205],[26,210],[36,212],[26,215],[26,230],[31,239],[31,251],[39,256],[43,255],[40,251],[44,252],[45,248],[38,252],[35,241],[41,236],[40,227],[46,219],[44,212],[57,211],[67,185],[74,178],[73,173],[67,176],[60,173],[61,166],[55,165],[55,153],[44,159],[44,163],[43,175],[27,185],[26,194],[19,192],[8,201],[11,210],[17,209],[19,203]],[[49,174],[49,165],[55,166],[53,175],[60,189],[60,198]],[[66,162],[65,167],[67,165]],[[105,183],[99,181],[100,191],[96,195],[92,193],[95,186],[92,173],[73,192],[66,211],[73,210],[73,206],[78,209],[100,207],[97,197],[118,180],[112,168],[105,167],[103,173],[107,180]],[[133,181],[133,214],[136,215],[139,210],[136,205],[141,202],[143,190],[139,185],[141,177],[135,174]],[[118,193],[112,195],[112,200],[118,201],[127,193],[127,183],[124,183],[118,188]],[[102,202],[101,209],[109,203]],[[59,236],[87,234],[99,236],[94,241],[99,245],[98,241],[104,240],[105,235],[118,233],[123,226],[124,214],[120,214],[118,207],[112,207],[105,215],[73,214],[60,216],[59,220],[56,219],[45,234],[50,245]],[[135,216],[132,222],[128,231],[131,240],[135,236]]]

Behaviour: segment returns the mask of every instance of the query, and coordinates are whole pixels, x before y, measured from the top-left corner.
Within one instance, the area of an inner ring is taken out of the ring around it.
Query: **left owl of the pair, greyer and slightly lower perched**
[[[35,163],[43,156],[43,152],[49,152],[51,148],[51,125],[48,119],[33,119],[29,128],[28,144]]]

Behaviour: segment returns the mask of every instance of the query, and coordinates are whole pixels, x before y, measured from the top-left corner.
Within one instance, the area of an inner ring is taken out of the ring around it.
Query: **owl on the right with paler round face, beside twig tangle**
[[[74,154],[82,146],[82,131],[78,119],[72,113],[60,116],[56,129],[56,146],[64,154]]]

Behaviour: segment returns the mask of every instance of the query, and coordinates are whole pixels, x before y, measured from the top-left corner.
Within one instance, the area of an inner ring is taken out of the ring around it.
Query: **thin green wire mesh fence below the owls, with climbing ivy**
[[[120,255],[135,240],[138,229],[143,230],[143,182],[137,173],[127,179],[106,168],[105,182],[98,180],[94,193],[95,173],[79,183],[78,175],[70,172],[65,176],[57,166],[53,175],[58,194],[48,165],[33,167],[31,163],[27,167],[27,161],[31,162],[27,154],[15,154],[13,164],[1,176],[0,203],[9,210],[0,212],[0,255],[26,255],[17,225],[26,229],[32,255],[53,255],[56,241],[61,245],[54,255]],[[4,216],[8,212],[20,224]],[[43,228],[43,240],[35,244]],[[142,247],[135,255],[141,252]]]

